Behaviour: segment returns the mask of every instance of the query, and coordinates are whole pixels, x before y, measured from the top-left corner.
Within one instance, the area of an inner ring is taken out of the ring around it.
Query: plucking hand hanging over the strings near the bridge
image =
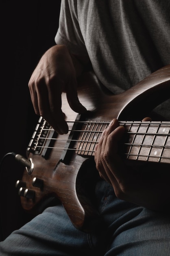
[[[51,47],[40,59],[28,87],[33,107],[59,134],[68,132],[61,110],[61,93],[66,92],[72,110],[86,111],[77,96],[76,70],[64,45]]]

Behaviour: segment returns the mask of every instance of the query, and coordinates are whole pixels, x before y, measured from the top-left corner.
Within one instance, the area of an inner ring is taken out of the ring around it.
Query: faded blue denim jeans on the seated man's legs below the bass
[[[74,228],[61,204],[48,207],[0,243],[0,255],[168,256],[170,216],[116,198],[105,181],[96,184],[102,219],[85,234]]]

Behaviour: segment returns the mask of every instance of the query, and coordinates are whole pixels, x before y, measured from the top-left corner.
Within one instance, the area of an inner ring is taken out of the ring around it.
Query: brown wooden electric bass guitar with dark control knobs
[[[98,216],[95,202],[89,200],[97,176],[95,145],[113,118],[126,130],[124,159],[170,164],[170,121],[140,121],[170,98],[170,65],[118,95],[106,92],[89,72],[78,88],[78,98],[89,110],[86,115],[72,111],[62,94],[67,135],[57,134],[39,119],[27,148],[30,166],[17,181],[17,189],[26,211],[36,214],[44,202],[59,200],[73,225],[86,232]]]

